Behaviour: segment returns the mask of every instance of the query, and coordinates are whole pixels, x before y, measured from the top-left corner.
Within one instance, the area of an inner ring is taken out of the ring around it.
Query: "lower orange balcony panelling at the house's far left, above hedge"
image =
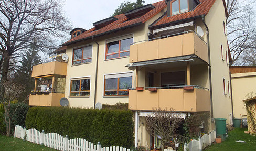
[[[60,106],[60,99],[63,98],[65,94],[62,93],[50,93],[50,94],[36,94],[29,95],[30,106]]]

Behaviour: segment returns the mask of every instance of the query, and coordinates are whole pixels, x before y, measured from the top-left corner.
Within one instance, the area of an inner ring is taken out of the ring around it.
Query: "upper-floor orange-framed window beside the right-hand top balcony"
[[[106,44],[106,59],[120,58],[130,55],[133,38],[113,41]]]

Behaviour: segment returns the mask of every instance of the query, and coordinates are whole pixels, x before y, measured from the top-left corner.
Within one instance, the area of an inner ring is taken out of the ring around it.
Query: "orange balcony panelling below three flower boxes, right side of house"
[[[180,112],[210,111],[210,93],[207,89],[193,87],[158,90],[129,90],[129,109],[151,111],[170,109]]]

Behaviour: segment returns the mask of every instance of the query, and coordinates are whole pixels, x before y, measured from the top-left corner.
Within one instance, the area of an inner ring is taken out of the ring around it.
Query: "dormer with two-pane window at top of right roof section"
[[[167,15],[173,16],[179,13],[193,10],[200,2],[198,0],[172,0],[167,2]]]

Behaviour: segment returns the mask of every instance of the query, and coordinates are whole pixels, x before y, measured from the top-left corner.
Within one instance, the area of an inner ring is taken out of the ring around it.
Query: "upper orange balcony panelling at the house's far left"
[[[65,62],[49,62],[33,66],[31,77],[40,77],[44,75],[67,75],[67,63]]]

